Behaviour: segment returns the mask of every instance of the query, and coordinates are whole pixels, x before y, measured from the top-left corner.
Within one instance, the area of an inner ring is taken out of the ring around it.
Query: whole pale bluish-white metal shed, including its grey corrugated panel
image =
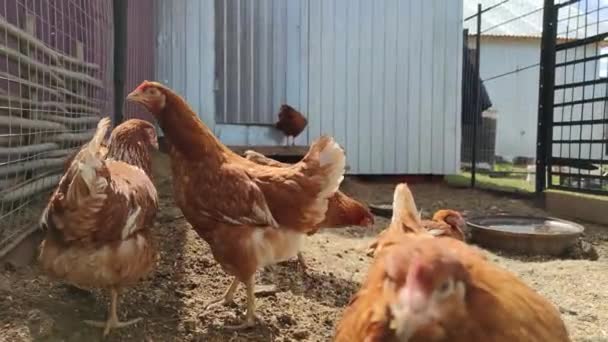
[[[282,103],[330,134],[353,174],[460,162],[462,0],[156,2],[156,76],[228,145],[283,143]]]

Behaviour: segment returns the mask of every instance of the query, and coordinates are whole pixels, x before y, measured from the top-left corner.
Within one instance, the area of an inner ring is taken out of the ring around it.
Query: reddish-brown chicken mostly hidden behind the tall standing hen
[[[260,165],[273,167],[291,166],[291,164],[281,163],[252,150],[245,151],[245,158]],[[319,223],[316,227],[317,229],[310,231],[308,235],[316,233],[320,228],[370,227],[373,224],[374,215],[363,203],[348,197],[342,191],[337,191],[329,198],[325,220]],[[298,252],[298,262],[304,270],[307,268],[302,252]]]

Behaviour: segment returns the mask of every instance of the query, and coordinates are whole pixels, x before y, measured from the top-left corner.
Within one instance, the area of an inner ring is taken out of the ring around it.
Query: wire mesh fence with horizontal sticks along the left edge
[[[0,0],[0,256],[112,103],[112,2]]]

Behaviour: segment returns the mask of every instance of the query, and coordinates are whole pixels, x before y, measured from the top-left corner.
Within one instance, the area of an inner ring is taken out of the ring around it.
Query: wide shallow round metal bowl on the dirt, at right
[[[467,225],[473,242],[491,250],[525,255],[562,255],[585,230],[566,220],[511,215],[477,217]]]

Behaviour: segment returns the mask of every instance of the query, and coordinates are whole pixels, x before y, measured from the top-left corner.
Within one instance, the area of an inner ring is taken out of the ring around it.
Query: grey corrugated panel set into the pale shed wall
[[[215,0],[216,121],[272,124],[285,102],[287,1]],[[228,96],[225,96],[228,94]]]

